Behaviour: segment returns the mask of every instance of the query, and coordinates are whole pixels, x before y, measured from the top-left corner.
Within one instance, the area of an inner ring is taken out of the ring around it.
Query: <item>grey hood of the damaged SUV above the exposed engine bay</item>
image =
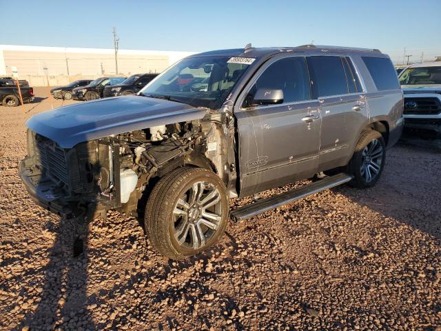
[[[61,148],[72,148],[110,134],[202,119],[206,110],[163,99],[113,97],[42,112],[31,117],[26,126]]]

